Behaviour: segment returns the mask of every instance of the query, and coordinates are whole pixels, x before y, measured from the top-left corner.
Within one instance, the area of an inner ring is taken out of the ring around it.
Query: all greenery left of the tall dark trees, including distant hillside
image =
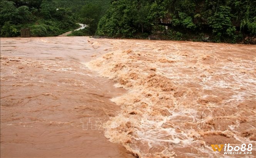
[[[1,0],[1,37],[20,36],[21,28],[30,28],[34,37],[57,36],[78,28],[76,22],[89,25],[93,35],[110,1],[82,0]]]

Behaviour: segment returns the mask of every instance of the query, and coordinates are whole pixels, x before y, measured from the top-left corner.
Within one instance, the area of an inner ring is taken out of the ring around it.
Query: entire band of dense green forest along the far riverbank
[[[256,0],[2,0],[1,37],[70,35],[256,44]]]

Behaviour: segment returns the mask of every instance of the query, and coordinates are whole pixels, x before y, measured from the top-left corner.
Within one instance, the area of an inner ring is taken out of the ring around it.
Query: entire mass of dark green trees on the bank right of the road
[[[118,0],[100,19],[96,34],[138,38],[145,32],[163,32],[161,36],[172,40],[201,40],[199,34],[205,34],[212,42],[235,43],[255,36],[255,4],[256,0]]]

